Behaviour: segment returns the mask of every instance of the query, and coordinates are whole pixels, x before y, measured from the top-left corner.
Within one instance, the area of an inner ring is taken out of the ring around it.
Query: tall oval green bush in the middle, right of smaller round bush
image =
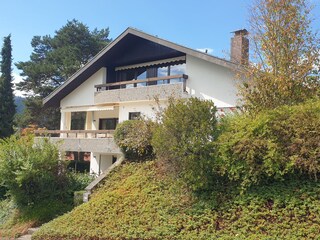
[[[152,139],[157,157],[182,174],[194,190],[210,188],[215,175],[215,113],[211,101],[170,101]]]

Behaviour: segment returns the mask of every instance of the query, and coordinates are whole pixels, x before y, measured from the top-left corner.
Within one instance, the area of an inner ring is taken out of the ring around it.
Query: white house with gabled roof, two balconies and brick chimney
[[[90,171],[100,174],[121,152],[113,141],[117,123],[153,117],[155,98],[212,100],[218,109],[236,106],[234,74],[248,59],[246,30],[235,32],[231,59],[217,58],[128,28],[44,99],[61,109],[61,149],[90,153]],[[40,133],[40,132],[38,132]]]

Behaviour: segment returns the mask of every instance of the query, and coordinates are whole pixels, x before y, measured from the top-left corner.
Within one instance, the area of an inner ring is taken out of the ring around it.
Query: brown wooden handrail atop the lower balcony
[[[69,134],[72,136],[75,135],[75,138],[78,138],[78,134],[84,134],[84,138],[88,137],[88,134],[91,134],[91,138],[112,138],[114,130],[34,130],[34,134],[38,136],[51,136],[52,134],[65,134],[66,138],[69,137]],[[97,134],[105,134],[104,136],[98,136]],[[61,137],[64,137],[62,135]]]

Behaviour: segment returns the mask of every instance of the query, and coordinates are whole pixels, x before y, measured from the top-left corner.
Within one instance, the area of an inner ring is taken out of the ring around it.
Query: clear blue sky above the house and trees
[[[26,61],[33,36],[53,35],[67,20],[77,19],[90,29],[109,27],[113,39],[131,26],[190,48],[210,48],[211,54],[227,58],[230,32],[248,27],[251,1],[4,0],[0,38],[11,34],[13,62]],[[319,0],[312,2],[320,4]],[[319,16],[315,16],[318,26]],[[18,78],[17,69],[13,72]]]

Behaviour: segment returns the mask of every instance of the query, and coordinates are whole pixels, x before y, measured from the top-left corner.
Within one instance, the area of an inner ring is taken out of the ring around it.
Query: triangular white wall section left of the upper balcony
[[[106,68],[101,68],[93,74],[88,80],[64,97],[60,102],[60,107],[76,107],[94,105],[94,85],[102,84],[106,79]]]

